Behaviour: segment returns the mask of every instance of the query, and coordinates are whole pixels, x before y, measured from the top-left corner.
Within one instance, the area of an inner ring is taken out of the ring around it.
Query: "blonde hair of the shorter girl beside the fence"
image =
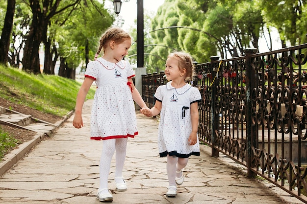
[[[186,69],[185,81],[192,80],[192,77],[195,76],[195,68],[190,54],[185,52],[173,52],[167,56],[167,58],[176,58],[178,60],[178,67],[180,70],[183,68]]]

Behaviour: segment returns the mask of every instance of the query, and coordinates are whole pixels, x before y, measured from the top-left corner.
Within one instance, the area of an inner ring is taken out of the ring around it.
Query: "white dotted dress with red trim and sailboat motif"
[[[95,80],[91,112],[91,139],[134,137],[138,134],[128,78],[134,71],[127,61],[111,63],[102,57],[90,62],[85,77]]]

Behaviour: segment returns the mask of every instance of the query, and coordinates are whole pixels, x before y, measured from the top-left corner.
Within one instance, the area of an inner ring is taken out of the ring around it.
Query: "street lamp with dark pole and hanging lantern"
[[[121,12],[122,1],[113,0],[115,13],[118,15]],[[136,19],[136,54],[137,67],[144,67],[144,4],[143,0],[137,0],[137,19]]]

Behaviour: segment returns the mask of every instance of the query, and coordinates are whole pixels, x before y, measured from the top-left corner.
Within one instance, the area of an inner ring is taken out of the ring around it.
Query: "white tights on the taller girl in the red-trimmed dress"
[[[116,167],[115,177],[122,177],[124,163],[126,159],[128,138],[106,139],[102,142],[102,155],[100,158],[99,175],[100,185],[99,189],[108,188],[108,176],[110,172],[111,160],[116,151]],[[123,181],[123,180],[122,180]],[[106,191],[107,190],[103,190]]]

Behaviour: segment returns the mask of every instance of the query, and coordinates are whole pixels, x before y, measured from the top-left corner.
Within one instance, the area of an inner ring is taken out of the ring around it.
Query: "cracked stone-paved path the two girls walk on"
[[[42,140],[25,158],[0,177],[1,204],[100,204],[99,160],[102,141],[90,140],[90,109],[83,108],[84,127],[72,126],[73,115],[54,136]],[[191,157],[176,198],[166,198],[166,158],[157,150],[158,121],[137,114],[139,135],[128,139],[123,175],[128,190],[115,190],[115,157],[109,189],[112,204],[302,204],[273,184],[251,180],[233,162],[201,145],[201,156]]]

